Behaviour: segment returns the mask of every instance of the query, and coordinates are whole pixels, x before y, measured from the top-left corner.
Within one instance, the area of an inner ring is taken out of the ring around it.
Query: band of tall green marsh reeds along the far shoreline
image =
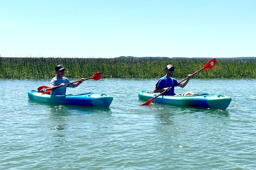
[[[210,58],[212,59],[212,58]],[[91,77],[97,72],[102,78],[160,78],[165,67],[175,67],[174,77],[183,79],[206,64],[209,58],[118,57],[118,58],[44,58],[1,57],[0,79],[49,80],[56,76],[55,66],[62,64],[70,80]],[[221,59],[209,70],[193,78],[256,79],[256,59]]]

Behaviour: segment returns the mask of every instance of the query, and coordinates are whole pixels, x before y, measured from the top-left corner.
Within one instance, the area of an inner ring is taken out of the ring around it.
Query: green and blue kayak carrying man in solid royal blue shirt
[[[159,93],[140,91],[138,92],[138,95],[139,99],[148,101],[149,99],[159,95]],[[192,106],[225,110],[231,102],[231,97],[201,93],[189,96],[158,96],[153,100],[153,102],[176,106]]]

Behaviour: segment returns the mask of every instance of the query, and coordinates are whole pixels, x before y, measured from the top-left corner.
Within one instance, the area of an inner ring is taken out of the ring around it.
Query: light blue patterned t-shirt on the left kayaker
[[[50,81],[50,87],[52,86],[59,86],[60,84],[67,84],[70,83],[69,79],[63,77],[62,79],[58,78],[57,76],[52,78],[52,80]],[[52,92],[50,93],[51,95],[65,95],[66,94],[66,87],[71,87],[74,88],[74,84],[68,84],[67,86],[64,87],[57,87],[54,88],[52,90]]]

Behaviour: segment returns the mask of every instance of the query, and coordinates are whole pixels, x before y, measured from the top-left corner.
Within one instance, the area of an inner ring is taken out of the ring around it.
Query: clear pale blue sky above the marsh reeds
[[[1,57],[256,57],[256,0],[0,0]]]

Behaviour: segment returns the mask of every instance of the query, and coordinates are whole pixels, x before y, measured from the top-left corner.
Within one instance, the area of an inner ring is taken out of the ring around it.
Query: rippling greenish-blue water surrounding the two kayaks
[[[231,96],[225,111],[153,103],[138,91],[157,79],[87,80],[68,93],[112,95],[110,108],[28,100],[49,81],[0,80],[0,169],[256,169],[256,80],[191,79],[193,90]]]

